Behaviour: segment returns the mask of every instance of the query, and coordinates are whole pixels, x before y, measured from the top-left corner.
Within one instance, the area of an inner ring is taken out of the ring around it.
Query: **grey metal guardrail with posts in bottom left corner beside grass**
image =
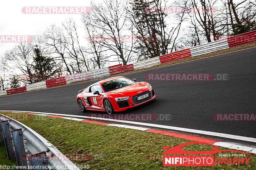
[[[17,166],[23,166],[19,169],[51,167],[54,170],[79,170],[55,146],[28,126],[3,114],[0,114],[0,120],[0,143],[4,142],[8,159],[16,159]]]

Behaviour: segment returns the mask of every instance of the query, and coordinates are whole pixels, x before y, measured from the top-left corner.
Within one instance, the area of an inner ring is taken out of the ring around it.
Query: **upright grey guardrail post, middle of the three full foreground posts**
[[[28,163],[21,128],[12,130],[12,139],[15,148],[17,165],[23,167],[19,168],[19,170],[27,170]]]

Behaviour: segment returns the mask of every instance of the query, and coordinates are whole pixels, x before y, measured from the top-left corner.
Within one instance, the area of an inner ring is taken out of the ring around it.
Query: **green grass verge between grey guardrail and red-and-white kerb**
[[[176,146],[190,140],[62,118],[25,113],[1,113],[35,130],[55,145],[60,152],[70,158],[76,165],[89,165],[90,169],[256,169],[255,154],[246,156],[251,158],[248,164],[163,166],[163,146]],[[211,150],[211,147],[210,145],[197,144],[188,145],[182,149],[206,151]],[[220,147],[220,149],[227,148]],[[232,153],[236,154],[236,152]],[[231,152],[221,152],[221,154],[231,154]],[[214,154],[214,159],[217,157],[219,157],[219,153]],[[4,162],[0,160],[0,164],[2,165]]]

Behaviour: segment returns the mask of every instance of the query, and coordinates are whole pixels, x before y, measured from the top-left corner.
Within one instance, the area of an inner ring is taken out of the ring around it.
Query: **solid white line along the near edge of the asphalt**
[[[150,123],[127,121],[127,120],[108,119],[108,118],[101,118],[101,117],[88,117],[88,116],[77,116],[77,115],[34,112],[34,111],[18,111],[18,110],[0,110],[0,111],[39,113],[39,114],[47,114],[47,115],[58,115],[58,116],[70,116],[70,117],[79,117],[79,118],[87,118],[87,119],[97,119],[97,120],[121,122],[121,123],[127,123],[127,124],[151,126],[151,127],[155,127],[155,128],[164,128],[164,129],[176,130],[176,131],[185,131],[185,132],[198,133],[198,134],[210,135],[210,136],[217,136],[217,137],[222,137],[222,138],[230,138],[230,139],[236,139],[236,140],[244,140],[244,141],[255,142],[256,143],[256,138],[244,137],[244,136],[238,136],[238,135],[231,135],[231,134],[219,133],[219,132],[212,132],[212,131],[188,129],[188,128],[175,127],[175,126],[167,126],[167,125],[161,125],[161,124],[150,124]]]

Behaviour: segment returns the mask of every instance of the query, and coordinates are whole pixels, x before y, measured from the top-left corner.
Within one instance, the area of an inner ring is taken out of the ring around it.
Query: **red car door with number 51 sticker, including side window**
[[[99,91],[100,95],[94,95],[93,93]],[[91,103],[91,107],[93,109],[100,109],[102,110],[103,108],[103,102],[102,102],[102,93],[103,90],[101,89],[100,85],[96,84],[93,85],[90,89],[89,89],[89,101]]]

